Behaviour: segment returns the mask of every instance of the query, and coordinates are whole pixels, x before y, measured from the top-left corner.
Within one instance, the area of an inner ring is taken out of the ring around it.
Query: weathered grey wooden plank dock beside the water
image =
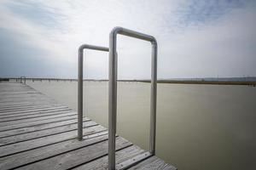
[[[19,82],[0,82],[0,169],[108,169],[108,129]],[[116,137],[118,169],[176,169]],[[137,161],[137,163],[134,163]]]

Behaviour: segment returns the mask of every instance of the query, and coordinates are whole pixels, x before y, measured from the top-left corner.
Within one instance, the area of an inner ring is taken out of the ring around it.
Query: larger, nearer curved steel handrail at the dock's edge
[[[117,34],[142,39],[152,44],[151,60],[151,96],[150,96],[150,137],[149,152],[155,155],[155,127],[156,127],[156,90],[157,90],[157,42],[152,36],[131,31],[122,27],[115,27],[109,35],[109,84],[108,84],[108,169],[115,169],[115,134],[117,115]]]

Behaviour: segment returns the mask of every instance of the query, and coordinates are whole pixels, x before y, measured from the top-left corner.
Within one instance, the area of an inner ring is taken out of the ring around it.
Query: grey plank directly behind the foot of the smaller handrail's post
[[[107,129],[105,127],[102,127],[101,125],[96,125],[94,127],[87,127],[87,128],[84,128],[84,136],[92,133],[99,133],[106,130]],[[77,136],[78,136],[77,131],[71,131],[67,133],[55,134],[53,136],[47,136],[40,139],[32,139],[24,142],[19,142],[16,144],[5,145],[0,147],[1,148],[0,157],[10,156],[22,151],[36,149],[38,147],[59,143],[61,141],[65,141],[68,139],[76,139]]]

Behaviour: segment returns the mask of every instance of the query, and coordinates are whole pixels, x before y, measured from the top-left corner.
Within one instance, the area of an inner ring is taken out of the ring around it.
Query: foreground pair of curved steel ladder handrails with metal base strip
[[[117,35],[138,38],[151,42],[151,94],[150,94],[150,136],[149,153],[137,156],[137,159],[127,161],[122,164],[120,169],[131,166],[133,161],[140,161],[148,156],[155,155],[155,127],[156,127],[156,93],[157,93],[157,41],[154,37],[137,31],[131,31],[122,27],[115,27],[109,35],[109,48],[84,44],[79,47],[79,81],[78,81],[78,139],[83,139],[83,58],[84,49],[99,51],[109,51],[109,70],[108,70],[108,169],[114,170],[115,167],[115,135],[116,135],[116,116],[117,116],[117,70],[118,54],[116,49]],[[119,167],[118,167],[119,169]]]

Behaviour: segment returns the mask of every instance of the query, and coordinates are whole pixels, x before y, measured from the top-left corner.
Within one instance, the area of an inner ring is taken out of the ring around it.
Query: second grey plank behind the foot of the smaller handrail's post
[[[84,122],[83,127],[84,128],[92,127],[92,126],[96,126],[96,125],[97,125],[96,122],[88,121],[88,122]],[[76,123],[76,124],[69,124],[69,125],[65,125],[65,126],[61,126],[61,127],[44,129],[44,130],[40,130],[40,131],[36,131],[36,132],[32,132],[32,133],[18,134],[15,136],[1,138],[0,139],[0,147],[3,145],[7,145],[7,144],[15,144],[18,142],[22,142],[22,141],[26,141],[26,140],[30,140],[30,139],[38,139],[38,138],[42,138],[45,136],[54,135],[54,134],[58,134],[58,133],[66,133],[66,132],[76,131],[77,129],[78,129],[78,124]],[[55,138],[55,137],[53,136],[53,138]]]

